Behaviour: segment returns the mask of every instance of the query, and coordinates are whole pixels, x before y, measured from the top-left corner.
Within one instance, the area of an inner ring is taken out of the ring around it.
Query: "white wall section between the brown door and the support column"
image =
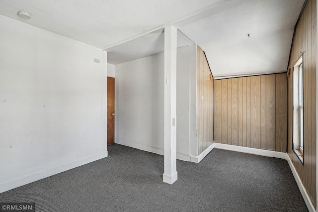
[[[115,142],[163,152],[163,54],[115,65]]]

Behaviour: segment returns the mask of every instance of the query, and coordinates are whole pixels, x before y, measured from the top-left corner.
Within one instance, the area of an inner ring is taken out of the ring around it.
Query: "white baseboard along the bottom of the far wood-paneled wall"
[[[229,145],[229,144],[223,144],[223,143],[215,143],[214,148],[225,149],[225,150],[236,151],[236,152],[243,152],[243,153],[254,154],[254,155],[262,155],[267,157],[281,158],[285,160],[287,157],[287,153],[285,152],[275,152],[270,150],[255,149],[255,148],[235,146],[235,145]]]

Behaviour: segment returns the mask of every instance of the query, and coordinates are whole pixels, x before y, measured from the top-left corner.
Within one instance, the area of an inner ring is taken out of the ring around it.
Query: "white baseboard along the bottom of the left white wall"
[[[105,151],[105,152],[102,152],[102,153],[100,153],[98,155],[87,157],[87,158],[84,158],[84,159],[81,159],[81,160],[78,160],[78,161],[74,161],[74,162],[71,162],[71,163],[68,163],[68,164],[64,164],[64,165],[57,166],[57,167],[54,167],[54,168],[50,168],[50,169],[47,169],[47,170],[44,170],[44,171],[40,171],[40,172],[31,174],[31,175],[27,175],[27,176],[24,176],[24,177],[21,177],[21,178],[18,178],[18,179],[14,179],[14,180],[11,180],[11,181],[7,181],[7,182],[4,182],[4,183],[1,183],[0,184],[0,193],[9,191],[11,189],[14,189],[14,188],[17,188],[17,187],[20,187],[20,186],[24,186],[26,184],[29,184],[29,183],[32,183],[32,182],[35,182],[35,181],[50,177],[52,175],[59,174],[61,172],[65,172],[65,171],[70,170],[70,169],[74,169],[76,167],[79,167],[79,166],[82,166],[84,164],[93,162],[95,160],[99,160],[99,159],[105,158],[105,157],[107,157],[107,154],[108,154],[108,152]]]

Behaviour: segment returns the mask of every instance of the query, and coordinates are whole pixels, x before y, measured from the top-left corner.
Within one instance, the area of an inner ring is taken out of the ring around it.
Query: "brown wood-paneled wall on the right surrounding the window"
[[[292,149],[293,74],[288,78],[288,155],[304,184],[312,203],[316,202],[316,24],[317,1],[308,0],[297,24],[289,66],[303,54],[304,80],[304,165]]]

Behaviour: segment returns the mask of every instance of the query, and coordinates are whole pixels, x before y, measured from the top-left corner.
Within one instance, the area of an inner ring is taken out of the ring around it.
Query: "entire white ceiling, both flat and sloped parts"
[[[178,31],[178,47],[194,41],[213,76],[228,77],[286,70],[304,1],[1,0],[0,14],[106,50],[112,64],[163,52],[172,24],[186,35]]]

